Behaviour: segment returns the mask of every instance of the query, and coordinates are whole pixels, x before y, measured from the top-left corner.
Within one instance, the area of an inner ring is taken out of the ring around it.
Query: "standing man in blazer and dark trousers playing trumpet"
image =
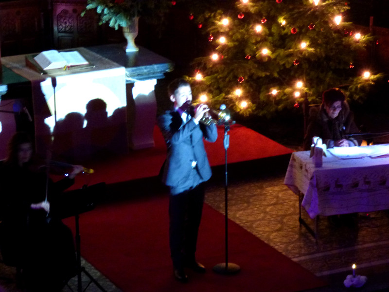
[[[209,108],[205,104],[195,109],[190,106],[192,90],[187,81],[171,82],[168,94],[174,110],[158,118],[168,148],[161,174],[162,182],[170,187],[169,243],[174,276],[180,282],[187,282],[185,267],[205,273],[205,267],[195,259],[204,182],[212,175],[203,138],[215,142],[217,128],[215,124],[199,124]]]

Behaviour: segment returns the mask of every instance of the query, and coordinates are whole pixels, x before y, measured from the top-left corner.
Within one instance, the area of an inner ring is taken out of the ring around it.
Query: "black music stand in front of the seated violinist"
[[[105,183],[97,183],[91,186],[84,185],[81,189],[67,192],[71,196],[74,196],[74,200],[67,199],[69,206],[62,208],[63,215],[62,218],[67,218],[74,216],[75,218],[75,245],[76,245],[76,257],[77,257],[77,292],[85,292],[91,283],[94,283],[97,288],[102,292],[107,292],[97,280],[88,273],[88,271],[81,265],[81,236],[80,236],[80,214],[91,211],[94,209],[96,194],[101,193],[102,190],[105,191]],[[78,204],[74,206],[74,202],[77,201]],[[66,211],[65,211],[66,210]],[[89,278],[89,283],[87,287],[83,290],[82,288],[82,273],[84,273]],[[68,285],[69,286],[69,285]],[[70,287],[69,287],[70,288]],[[71,289],[71,288],[70,288]]]

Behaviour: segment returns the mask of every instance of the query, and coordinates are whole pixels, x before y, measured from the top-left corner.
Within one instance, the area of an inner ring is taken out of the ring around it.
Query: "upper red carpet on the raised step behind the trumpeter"
[[[229,164],[293,152],[291,149],[238,124],[232,125],[228,134],[230,135],[230,147],[227,151]],[[222,165],[225,162],[223,139],[224,127],[219,127],[216,142],[205,142],[211,166]],[[125,156],[85,165],[95,170],[94,174],[88,176],[89,184],[127,182],[158,175],[166,158],[166,145],[157,126],[154,129],[154,141],[155,146],[152,148],[131,151]],[[74,188],[80,187],[80,184],[82,185],[83,182],[76,184]]]

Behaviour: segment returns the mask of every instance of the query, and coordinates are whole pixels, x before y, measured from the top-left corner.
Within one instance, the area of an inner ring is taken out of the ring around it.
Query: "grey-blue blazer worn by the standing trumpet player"
[[[211,178],[212,171],[205,152],[203,138],[209,142],[217,139],[216,125],[196,125],[191,119],[186,124],[178,111],[166,111],[158,117],[161,129],[168,147],[166,162],[162,166],[162,182],[171,187],[188,184],[193,181],[193,167],[202,182]],[[192,184],[192,186],[195,186]]]

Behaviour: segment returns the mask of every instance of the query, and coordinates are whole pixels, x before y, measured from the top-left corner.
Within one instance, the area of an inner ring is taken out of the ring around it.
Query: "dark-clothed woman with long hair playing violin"
[[[35,171],[28,134],[16,133],[0,167],[0,249],[5,263],[21,268],[30,291],[60,291],[77,272],[71,230],[55,210],[66,188],[83,171],[74,165],[69,176],[53,182]]]

